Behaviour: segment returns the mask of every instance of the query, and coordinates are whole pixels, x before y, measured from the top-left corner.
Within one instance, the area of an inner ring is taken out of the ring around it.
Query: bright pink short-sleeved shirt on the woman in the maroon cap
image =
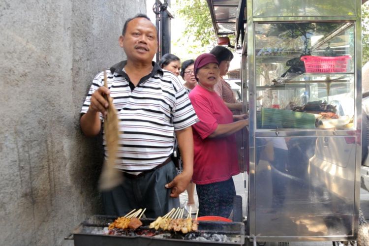
[[[196,86],[189,98],[200,122],[192,125],[194,141],[194,166],[192,181],[211,184],[226,181],[240,173],[235,134],[208,138],[218,124],[233,122],[232,112],[216,92]]]

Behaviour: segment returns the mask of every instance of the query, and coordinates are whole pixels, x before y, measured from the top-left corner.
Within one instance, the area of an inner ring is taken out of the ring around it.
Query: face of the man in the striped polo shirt
[[[127,60],[151,62],[157,50],[156,29],[146,18],[136,18],[128,22],[124,36],[119,37]]]

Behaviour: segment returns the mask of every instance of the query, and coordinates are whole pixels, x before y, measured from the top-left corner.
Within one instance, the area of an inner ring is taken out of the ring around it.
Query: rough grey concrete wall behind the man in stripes
[[[121,61],[126,18],[145,0],[0,1],[0,244],[64,245],[102,213],[100,138],[79,111],[93,76]]]

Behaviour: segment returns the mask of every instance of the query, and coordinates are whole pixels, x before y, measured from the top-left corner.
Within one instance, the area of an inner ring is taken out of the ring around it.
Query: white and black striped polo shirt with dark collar
[[[174,131],[198,122],[180,80],[153,62],[152,72],[137,86],[124,72],[126,61],[106,70],[108,88],[118,111],[119,149],[116,168],[137,175],[163,163],[174,148]],[[104,72],[95,76],[81,113],[88,111],[91,95],[104,84]],[[100,113],[100,119],[103,117]],[[107,157],[105,134],[103,145]]]

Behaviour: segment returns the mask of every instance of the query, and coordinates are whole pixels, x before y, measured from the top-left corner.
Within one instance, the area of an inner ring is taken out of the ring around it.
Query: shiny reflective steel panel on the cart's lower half
[[[255,141],[256,235],[352,235],[354,136]]]

